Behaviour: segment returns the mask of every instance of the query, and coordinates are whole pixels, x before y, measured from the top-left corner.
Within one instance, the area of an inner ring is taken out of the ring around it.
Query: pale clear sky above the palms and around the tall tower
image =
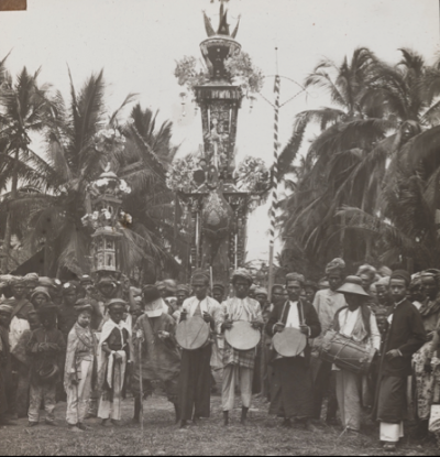
[[[273,76],[282,79],[280,102],[294,97],[308,73],[322,58],[340,64],[359,46],[389,63],[398,48],[409,47],[431,63],[439,53],[438,0],[230,0],[229,22],[241,15],[237,40],[266,75],[262,95],[273,99]],[[42,67],[40,83],[52,83],[68,100],[70,68],[78,88],[105,69],[111,113],[129,93],[143,107],[160,110],[160,121],[174,122],[173,140],[179,154],[198,150],[200,113],[187,104],[183,116],[174,77],[176,61],[200,57],[206,32],[202,11],[216,26],[219,2],[210,0],[30,0],[25,12],[0,12],[0,58],[11,52],[8,68],[14,75],[25,65]],[[289,79],[287,79],[289,78]],[[293,79],[294,81],[292,81]],[[329,105],[326,94],[309,91],[286,104],[279,115],[280,146],[292,133],[295,115]],[[243,101],[238,124],[238,162],[245,155],[273,157],[273,108],[262,97]],[[267,207],[249,221],[248,260],[267,260]],[[277,243],[280,249],[280,242]]]

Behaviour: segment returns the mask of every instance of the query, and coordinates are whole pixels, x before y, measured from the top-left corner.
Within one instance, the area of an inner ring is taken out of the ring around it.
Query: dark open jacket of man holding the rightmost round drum
[[[287,302],[286,302],[287,303]],[[268,318],[267,325],[266,325],[266,334],[268,336],[274,336],[274,325],[282,322],[283,324],[287,323],[288,312],[289,312],[289,304],[287,303],[287,306],[285,304],[275,306],[273,312],[271,313],[271,317]],[[284,311],[284,313],[283,313]],[[298,314],[299,319],[301,320],[304,316],[304,323],[308,327],[310,327],[310,335],[309,338],[316,338],[321,334],[321,324],[318,318],[318,314],[314,307],[314,305],[310,305],[310,303],[305,302],[302,300],[298,300]],[[309,346],[308,339],[307,339],[307,346],[304,350],[306,363],[309,364],[310,362],[310,353],[311,348]],[[276,351],[273,350],[271,360],[276,357]]]

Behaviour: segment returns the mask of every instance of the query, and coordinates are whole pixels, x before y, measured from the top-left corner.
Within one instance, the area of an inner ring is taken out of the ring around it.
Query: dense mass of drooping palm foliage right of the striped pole
[[[302,271],[314,278],[336,255],[353,268],[439,266],[438,67],[400,52],[392,66],[359,48],[339,66],[321,62],[306,78],[332,106],[297,115],[280,154],[289,191],[278,220],[284,264],[307,259]],[[298,160],[312,122],[321,133]]]

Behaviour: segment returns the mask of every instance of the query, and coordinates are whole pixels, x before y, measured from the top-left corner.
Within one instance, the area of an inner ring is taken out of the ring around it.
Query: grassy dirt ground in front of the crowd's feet
[[[267,402],[254,399],[249,425],[240,425],[240,409],[237,409],[231,415],[231,425],[224,428],[220,405],[220,396],[212,396],[211,418],[179,431],[174,425],[173,406],[165,398],[154,395],[144,403],[145,429],[141,436],[140,426],[130,424],[133,399],[124,401],[124,425],[103,428],[97,420],[89,420],[91,431],[82,434],[68,431],[64,421],[66,404],[58,403],[56,428],[44,425],[43,421],[42,425],[29,429],[25,420],[20,420],[15,427],[1,427],[0,456],[385,455],[374,424],[366,424],[360,436],[341,436],[340,427],[324,425],[317,426],[315,433],[299,426],[286,431],[279,426],[279,420],[267,415]],[[406,438],[396,455],[440,456],[440,449],[433,442]]]

